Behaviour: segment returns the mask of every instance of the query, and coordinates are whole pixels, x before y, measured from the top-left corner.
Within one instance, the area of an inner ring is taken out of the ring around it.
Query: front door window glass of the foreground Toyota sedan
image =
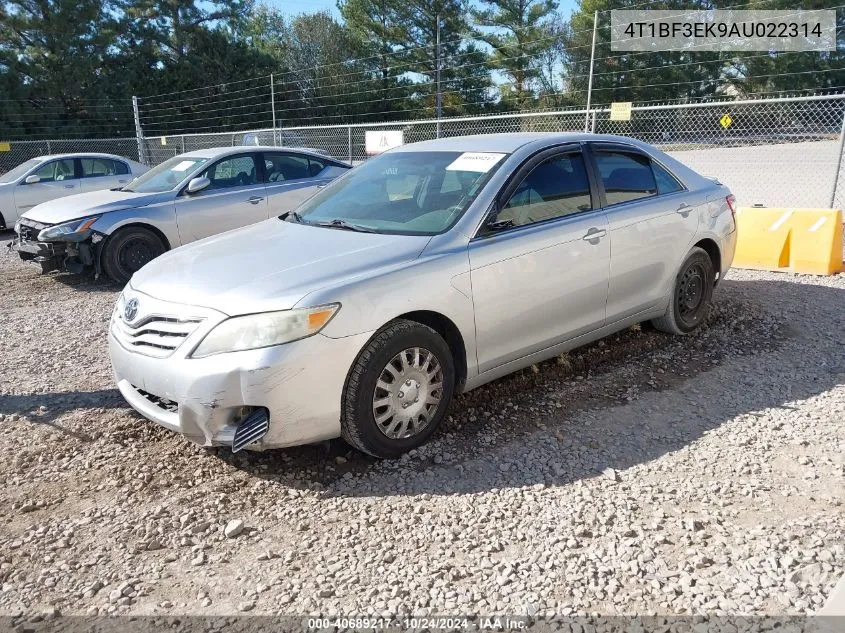
[[[526,226],[592,209],[590,181],[580,153],[540,163],[517,186],[497,222]]]

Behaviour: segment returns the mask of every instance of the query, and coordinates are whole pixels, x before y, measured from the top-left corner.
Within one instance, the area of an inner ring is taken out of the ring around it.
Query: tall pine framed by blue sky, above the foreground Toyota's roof
[[[532,80],[541,76],[539,58],[555,46],[558,34],[550,23],[557,2],[481,0],[481,5],[472,12],[476,24],[494,30],[476,29],[476,36],[493,48],[492,65],[508,75],[517,104],[525,107],[533,96]]]

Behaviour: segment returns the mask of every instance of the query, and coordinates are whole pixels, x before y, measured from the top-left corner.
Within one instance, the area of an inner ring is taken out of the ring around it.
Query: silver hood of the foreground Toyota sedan
[[[430,239],[273,218],[165,253],[135,273],[130,286],[230,316],[287,310],[320,288],[416,259]]]

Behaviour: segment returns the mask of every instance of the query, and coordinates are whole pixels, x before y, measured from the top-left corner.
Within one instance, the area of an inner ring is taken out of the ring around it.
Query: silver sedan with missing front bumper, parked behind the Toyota
[[[126,283],[165,251],[289,211],[347,169],[308,150],[192,151],[119,189],[33,208],[15,225],[15,248],[42,272],[93,267]]]

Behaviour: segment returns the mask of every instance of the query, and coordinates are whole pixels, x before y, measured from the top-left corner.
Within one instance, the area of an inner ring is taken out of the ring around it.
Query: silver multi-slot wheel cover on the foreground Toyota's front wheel
[[[443,398],[443,368],[422,347],[402,350],[385,365],[373,391],[376,426],[392,440],[406,439],[425,429]]]

